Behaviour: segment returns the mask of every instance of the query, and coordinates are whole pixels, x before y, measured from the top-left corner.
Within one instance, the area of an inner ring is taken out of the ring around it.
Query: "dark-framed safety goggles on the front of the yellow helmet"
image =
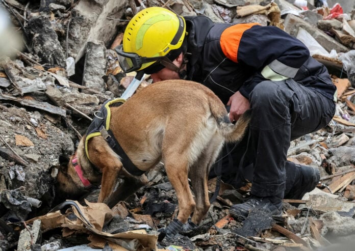
[[[155,62],[164,58],[164,56],[146,58],[141,57],[140,55],[134,52],[124,52],[122,45],[118,45],[115,48],[115,51],[118,54],[119,66],[126,73],[139,70],[145,63]]]

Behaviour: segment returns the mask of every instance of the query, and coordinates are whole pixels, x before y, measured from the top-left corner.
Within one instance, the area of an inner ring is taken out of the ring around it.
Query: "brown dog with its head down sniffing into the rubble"
[[[122,105],[111,107],[109,129],[133,164],[148,171],[159,161],[164,163],[179,202],[177,220],[169,225],[167,235],[181,231],[192,212],[190,225],[198,225],[205,216],[210,207],[210,167],[224,142],[241,140],[249,115],[247,112],[236,124],[230,123],[220,99],[207,87],[187,80],[153,83]],[[60,190],[72,196],[85,190],[87,184],[101,183],[98,202],[112,207],[147,179],[128,172],[123,156],[115,153],[105,135],[91,137],[87,144],[84,136],[75,154],[59,170],[57,181]],[[81,171],[75,171],[78,165]],[[113,191],[119,175],[125,177],[124,184]]]

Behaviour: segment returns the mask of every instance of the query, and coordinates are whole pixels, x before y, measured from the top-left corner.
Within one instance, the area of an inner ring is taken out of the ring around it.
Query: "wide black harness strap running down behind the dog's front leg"
[[[105,138],[109,146],[121,157],[121,162],[124,169],[132,175],[140,176],[145,173],[137,168],[131,161],[131,159],[127,156],[127,154],[123,151],[122,147],[119,145],[115,136],[113,135],[111,130],[106,130],[104,126],[100,128],[101,135]]]

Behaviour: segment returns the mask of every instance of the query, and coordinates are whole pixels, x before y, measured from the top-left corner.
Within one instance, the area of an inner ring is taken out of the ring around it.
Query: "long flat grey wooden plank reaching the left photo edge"
[[[12,101],[18,102],[24,106],[34,107],[34,108],[37,108],[40,110],[48,111],[48,113],[51,113],[51,114],[57,114],[57,115],[66,117],[66,110],[65,109],[48,104],[47,102],[39,102],[39,101],[35,101],[35,100],[14,98],[11,96],[4,95],[1,91],[0,91],[0,100],[12,100]]]

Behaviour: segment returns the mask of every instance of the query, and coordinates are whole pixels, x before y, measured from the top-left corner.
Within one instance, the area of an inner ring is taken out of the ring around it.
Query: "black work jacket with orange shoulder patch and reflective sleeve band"
[[[334,99],[336,87],[324,65],[298,39],[275,26],[214,23],[184,17],[187,25],[187,79],[210,88],[224,104],[235,92],[248,98],[265,69],[290,77]],[[275,79],[271,79],[275,80]]]

